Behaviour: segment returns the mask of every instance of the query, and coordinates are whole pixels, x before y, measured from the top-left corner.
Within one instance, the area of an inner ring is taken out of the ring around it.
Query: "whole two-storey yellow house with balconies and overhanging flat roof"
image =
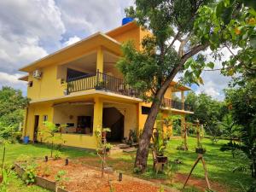
[[[96,148],[97,128],[110,127],[108,140],[120,142],[130,130],[143,129],[150,103],[138,98],[123,81],[115,67],[121,56],[121,43],[133,40],[142,49],[142,39],[149,32],[135,22],[129,22],[110,32],[97,32],[76,44],[32,62],[20,71],[28,73],[20,80],[27,81],[27,96],[23,137],[40,141],[38,132],[45,120],[55,125],[67,124],[60,133],[65,145]],[[163,116],[193,113],[184,104],[188,87],[175,82],[166,91]],[[181,101],[172,101],[172,93],[180,92]]]

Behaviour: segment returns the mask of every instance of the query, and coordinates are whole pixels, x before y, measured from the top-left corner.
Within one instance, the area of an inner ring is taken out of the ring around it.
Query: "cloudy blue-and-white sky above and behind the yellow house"
[[[132,4],[133,0],[1,0],[0,88],[12,86],[26,96],[26,82],[18,80],[25,74],[18,71],[20,67],[92,33],[120,26],[125,7]],[[230,56],[226,49],[223,55],[224,60]],[[207,60],[213,61],[210,55]],[[218,71],[204,72],[202,78],[205,84],[192,89],[223,100],[230,79]]]

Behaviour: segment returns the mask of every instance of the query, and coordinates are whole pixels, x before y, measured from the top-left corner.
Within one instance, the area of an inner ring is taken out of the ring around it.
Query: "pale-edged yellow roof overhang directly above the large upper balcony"
[[[32,72],[35,69],[46,67],[53,63],[63,63],[65,61],[71,61],[73,58],[79,58],[97,47],[102,46],[103,49],[107,49],[114,55],[121,55],[121,44],[113,38],[102,32],[96,32],[88,38],[69,45],[63,49],[56,51],[53,54],[47,55],[38,61],[34,61],[26,67],[21,67],[19,70],[22,72]]]

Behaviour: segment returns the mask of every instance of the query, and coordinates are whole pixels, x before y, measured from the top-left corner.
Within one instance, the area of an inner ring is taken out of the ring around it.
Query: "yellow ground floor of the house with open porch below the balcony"
[[[46,142],[41,134],[44,132],[44,121],[53,122],[56,126],[65,125],[56,135],[67,146],[79,148],[97,147],[95,131],[110,128],[108,142],[121,143],[127,139],[131,131],[141,134],[147,119],[150,105],[137,100],[125,100],[106,96],[72,97],[66,100],[44,101],[31,103],[26,108],[26,118],[22,132],[32,142]],[[171,110],[161,109],[162,118],[170,115]],[[181,116],[184,123],[185,114]],[[172,125],[163,125],[172,136]],[[168,126],[168,127],[167,127]]]

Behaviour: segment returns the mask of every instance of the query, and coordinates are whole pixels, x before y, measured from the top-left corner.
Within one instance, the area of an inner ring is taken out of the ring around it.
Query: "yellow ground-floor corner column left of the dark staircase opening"
[[[102,114],[103,114],[103,102],[99,97],[94,99],[94,110],[93,110],[93,134],[96,129],[102,129]]]

